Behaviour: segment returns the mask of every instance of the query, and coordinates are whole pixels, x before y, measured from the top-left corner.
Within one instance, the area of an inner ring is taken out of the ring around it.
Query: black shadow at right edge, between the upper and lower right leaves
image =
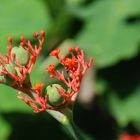
[[[126,97],[140,84],[140,55],[129,61],[121,61],[113,67],[99,70],[98,74],[121,98]]]

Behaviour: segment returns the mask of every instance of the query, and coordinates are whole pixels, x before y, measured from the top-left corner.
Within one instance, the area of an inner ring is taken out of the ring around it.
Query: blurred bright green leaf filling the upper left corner
[[[45,3],[40,0],[2,0],[0,4],[0,51],[5,52],[7,37],[31,37],[35,31],[48,30],[51,18]],[[2,48],[3,46],[3,48]]]

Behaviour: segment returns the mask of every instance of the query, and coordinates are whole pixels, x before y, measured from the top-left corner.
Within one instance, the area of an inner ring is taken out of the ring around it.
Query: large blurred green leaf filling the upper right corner
[[[98,0],[74,10],[85,21],[76,41],[95,58],[99,68],[137,54],[140,24],[128,19],[137,18],[139,7],[139,0]]]

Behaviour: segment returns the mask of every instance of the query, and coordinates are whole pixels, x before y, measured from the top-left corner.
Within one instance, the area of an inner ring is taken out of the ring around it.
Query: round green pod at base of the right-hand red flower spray
[[[53,84],[46,88],[48,94],[48,103],[52,106],[59,106],[64,102],[64,97],[60,95],[59,89],[62,88],[59,84]]]

